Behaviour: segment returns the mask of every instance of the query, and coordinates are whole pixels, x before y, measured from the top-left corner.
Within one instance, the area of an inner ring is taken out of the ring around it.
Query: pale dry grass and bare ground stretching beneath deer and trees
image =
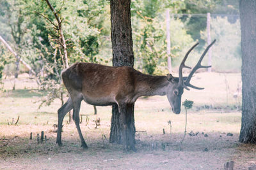
[[[0,95],[0,169],[222,169],[229,160],[235,161],[236,169],[246,169],[256,162],[253,155],[256,147],[237,142],[241,111],[234,106],[241,106],[241,91],[237,98],[233,96],[237,87],[241,87],[241,75],[200,73],[192,80],[191,83],[205,90],[185,91],[182,101],[189,99],[195,103],[188,110],[187,131],[198,132],[198,135],[187,135],[180,147],[185,126],[184,108],[180,115],[175,115],[166,97],[141,97],[135,104],[138,152],[124,153],[122,146],[102,139],[102,134],[109,138],[110,106],[97,107],[101,122],[95,129],[93,106],[82,103],[80,115],[83,120],[86,116],[90,118],[87,126],[85,121],[81,124],[88,150],[81,149],[76,127],[66,124],[66,116],[60,148],[55,144],[56,133],[52,127],[57,123],[60,101],[38,109],[44,93],[35,90],[35,80],[22,75],[17,80],[17,90],[12,91],[9,78],[4,81],[6,92]],[[7,125],[7,119],[17,119],[18,115],[18,125]],[[49,140],[37,144],[36,134],[41,131]],[[29,140],[30,132],[32,140]],[[233,136],[227,136],[228,132]]]

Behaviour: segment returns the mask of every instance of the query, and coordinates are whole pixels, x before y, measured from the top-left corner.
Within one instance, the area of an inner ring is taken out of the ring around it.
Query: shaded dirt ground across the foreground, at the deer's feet
[[[99,134],[94,138],[90,134],[86,138],[89,148],[83,150],[79,136],[72,133],[74,125],[66,126],[62,147],[56,145],[56,133],[51,126],[40,126],[49,140],[38,144],[36,139],[30,140],[29,135],[25,138],[22,134],[22,129],[38,129],[38,126],[26,126],[13,125],[7,130],[1,125],[2,130],[19,134],[1,138],[1,169],[223,169],[230,160],[235,162],[234,169],[247,169],[256,163],[256,146],[237,143],[238,134],[210,132],[207,137],[202,132],[195,136],[187,134],[180,145],[183,134],[148,136],[137,132],[138,151],[127,153],[122,146],[101,139]]]

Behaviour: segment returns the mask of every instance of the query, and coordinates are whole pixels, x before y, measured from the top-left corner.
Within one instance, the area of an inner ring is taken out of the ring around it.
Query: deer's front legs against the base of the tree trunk
[[[120,107],[120,118],[122,124],[122,140],[124,150],[136,151],[134,143],[134,128],[131,125],[131,112],[127,104],[123,104]]]

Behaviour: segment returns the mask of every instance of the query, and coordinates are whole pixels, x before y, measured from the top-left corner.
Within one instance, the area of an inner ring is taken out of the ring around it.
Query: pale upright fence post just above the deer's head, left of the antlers
[[[170,39],[170,10],[166,10],[166,41],[167,41],[167,66],[169,73],[172,72],[171,39]]]

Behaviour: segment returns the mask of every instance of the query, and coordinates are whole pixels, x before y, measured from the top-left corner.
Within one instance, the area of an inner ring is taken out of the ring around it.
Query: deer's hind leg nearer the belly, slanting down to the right
[[[72,98],[72,102],[73,102],[73,120],[76,124],[76,129],[77,129],[77,132],[79,134],[79,137],[81,139],[81,143],[82,143],[82,147],[83,148],[88,148],[88,146],[86,145],[85,141],[84,141],[84,138],[83,138],[83,134],[81,132],[81,129],[80,129],[80,120],[79,120],[79,111],[80,111],[80,107],[81,107],[81,101],[83,100],[83,97],[75,97],[75,98]]]

